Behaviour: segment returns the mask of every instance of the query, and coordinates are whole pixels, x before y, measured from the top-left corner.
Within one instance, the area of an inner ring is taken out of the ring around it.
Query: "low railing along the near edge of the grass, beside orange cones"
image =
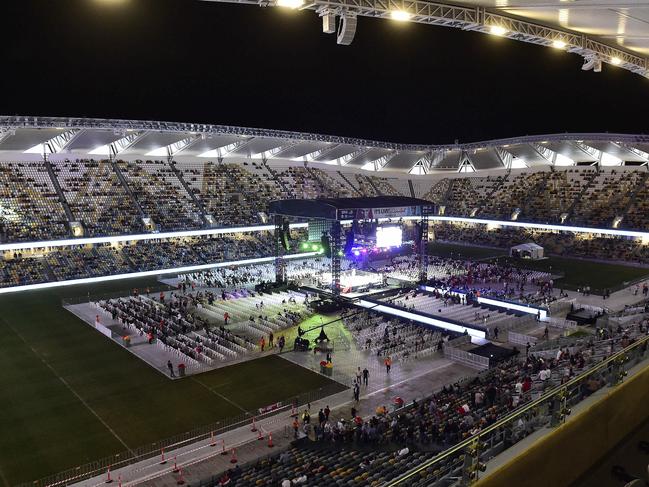
[[[320,387],[308,393],[292,396],[284,401],[281,401],[281,407],[269,411],[267,413],[259,414],[259,411],[247,411],[237,416],[226,418],[212,424],[201,426],[184,433],[180,433],[169,438],[158,440],[147,445],[140,446],[128,451],[123,451],[110,455],[108,457],[96,460],[94,462],[79,465],[63,472],[49,475],[33,482],[26,482],[17,487],[54,487],[65,486],[76,482],[81,482],[93,477],[97,477],[106,473],[110,467],[112,471],[119,468],[132,465],[134,463],[146,461],[148,459],[160,455],[162,449],[165,452],[172,451],[187,445],[208,440],[217,435],[221,435],[238,427],[250,424],[254,417],[256,421],[266,419],[278,414],[285,414],[290,411],[292,407],[299,408],[319,399],[331,396],[340,392],[341,385],[338,383],[331,383],[324,387]]]

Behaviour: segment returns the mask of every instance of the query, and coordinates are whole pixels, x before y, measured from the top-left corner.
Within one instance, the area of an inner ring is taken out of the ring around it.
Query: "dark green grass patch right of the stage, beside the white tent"
[[[619,264],[593,262],[568,257],[549,257],[538,261],[521,261],[506,259],[516,266],[563,274],[565,277],[556,281],[555,287],[575,290],[590,286],[592,292],[600,293],[604,289],[611,291],[628,286],[630,282],[649,277],[649,269]]]

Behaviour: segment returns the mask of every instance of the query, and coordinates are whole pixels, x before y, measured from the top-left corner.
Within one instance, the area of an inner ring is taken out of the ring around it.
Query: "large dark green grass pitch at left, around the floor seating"
[[[147,285],[155,282],[0,297],[0,484],[28,482],[336,387],[277,356],[171,381],[61,307],[62,297]]]

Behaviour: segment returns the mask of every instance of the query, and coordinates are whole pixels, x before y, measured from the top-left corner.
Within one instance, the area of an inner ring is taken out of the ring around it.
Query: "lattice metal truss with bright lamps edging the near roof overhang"
[[[276,6],[276,0],[203,0],[219,3],[244,3],[261,7]],[[373,18],[391,18],[392,12],[404,12],[408,21],[420,24],[454,27],[488,33],[497,26],[502,37],[550,46],[555,41],[565,45],[565,50],[585,59],[596,58],[649,78],[649,59],[633,52],[609,46],[585,34],[556,27],[548,27],[526,20],[492,12],[484,7],[460,7],[440,2],[420,0],[310,0],[300,7],[315,10],[321,17],[349,15]],[[331,30],[327,30],[331,32]]]

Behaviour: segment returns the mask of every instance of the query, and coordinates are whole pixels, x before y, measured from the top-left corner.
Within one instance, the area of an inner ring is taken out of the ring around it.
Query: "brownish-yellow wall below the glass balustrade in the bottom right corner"
[[[649,367],[615,388],[480,480],[477,487],[568,486],[647,420]]]

